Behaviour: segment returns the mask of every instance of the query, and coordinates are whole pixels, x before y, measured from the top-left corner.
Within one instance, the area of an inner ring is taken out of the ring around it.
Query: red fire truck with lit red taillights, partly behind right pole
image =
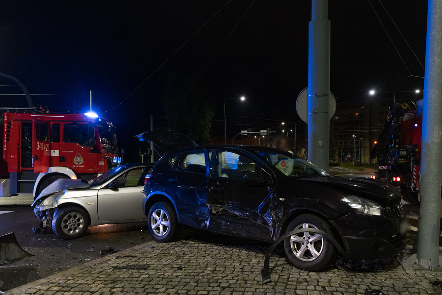
[[[412,204],[420,203],[423,101],[391,105],[384,129],[370,152],[370,157],[377,159],[372,178],[399,187]]]

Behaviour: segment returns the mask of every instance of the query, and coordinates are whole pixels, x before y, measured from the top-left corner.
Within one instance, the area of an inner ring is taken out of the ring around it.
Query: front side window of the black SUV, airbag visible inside
[[[212,177],[244,180],[248,172],[261,170],[248,157],[230,151],[213,151],[209,160]]]

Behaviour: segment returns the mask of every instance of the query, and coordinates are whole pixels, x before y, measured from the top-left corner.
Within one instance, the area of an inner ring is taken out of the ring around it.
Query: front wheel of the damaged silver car
[[[87,213],[78,207],[57,209],[52,219],[52,230],[62,239],[74,239],[83,236],[89,226]]]

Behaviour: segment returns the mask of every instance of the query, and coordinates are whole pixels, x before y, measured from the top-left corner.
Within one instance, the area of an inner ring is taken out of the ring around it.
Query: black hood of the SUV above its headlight
[[[380,205],[387,205],[392,200],[402,198],[399,190],[385,182],[373,180],[368,177],[321,177],[304,178],[305,182],[313,182],[315,185],[323,185],[344,192],[346,195],[356,195],[375,201]]]

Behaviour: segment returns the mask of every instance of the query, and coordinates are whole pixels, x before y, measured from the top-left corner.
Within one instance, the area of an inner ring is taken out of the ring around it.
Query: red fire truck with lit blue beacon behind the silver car
[[[59,178],[90,180],[121,163],[115,128],[93,112],[4,112],[0,196],[36,198]]]

